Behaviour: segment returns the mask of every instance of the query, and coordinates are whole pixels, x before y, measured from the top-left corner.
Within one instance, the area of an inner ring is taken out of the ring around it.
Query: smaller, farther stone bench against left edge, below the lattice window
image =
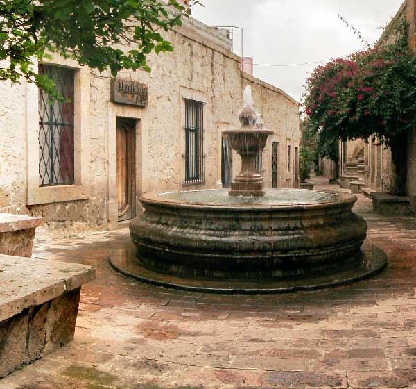
[[[43,217],[0,213],[0,254],[30,258],[36,227],[43,225]]]

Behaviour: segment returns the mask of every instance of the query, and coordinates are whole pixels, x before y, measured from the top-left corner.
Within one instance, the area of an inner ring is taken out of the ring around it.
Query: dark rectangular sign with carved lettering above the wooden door
[[[148,97],[149,90],[146,84],[119,77],[111,80],[111,101],[113,103],[147,107],[149,105]]]

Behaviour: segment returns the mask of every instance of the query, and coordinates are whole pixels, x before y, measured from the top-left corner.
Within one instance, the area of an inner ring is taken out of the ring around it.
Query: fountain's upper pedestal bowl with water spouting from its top
[[[232,149],[241,156],[241,171],[234,177],[229,195],[262,197],[265,195],[264,181],[256,171],[256,156],[266,147],[267,138],[274,132],[257,124],[258,115],[251,106],[250,87],[244,90],[244,102],[245,107],[239,114],[241,128],[223,131]]]

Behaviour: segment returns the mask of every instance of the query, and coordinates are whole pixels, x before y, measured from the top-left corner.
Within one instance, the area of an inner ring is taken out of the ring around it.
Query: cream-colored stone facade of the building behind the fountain
[[[221,130],[237,126],[243,88],[252,87],[254,106],[275,131],[263,155],[266,183],[272,186],[272,142],[279,142],[278,187],[297,185],[300,142],[297,101],[240,70],[223,31],[189,19],[166,38],[173,53],[152,54],[151,74],[120,77],[145,83],[147,107],[110,101],[110,74],[54,58],[51,64],[76,69],[74,98],[75,184],[39,185],[39,92],[24,81],[0,82],[0,212],[40,215],[45,230],[69,234],[117,225],[116,119],[136,123],[136,197],[162,190],[218,188],[221,185]],[[128,47],[125,47],[128,49]],[[206,104],[205,183],[184,184],[184,99]],[[288,168],[288,146],[291,147]],[[239,158],[234,154],[234,174]]]

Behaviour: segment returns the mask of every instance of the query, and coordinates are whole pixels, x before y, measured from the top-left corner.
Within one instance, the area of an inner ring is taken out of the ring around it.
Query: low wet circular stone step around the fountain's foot
[[[135,258],[135,265],[137,268],[141,269],[145,274],[150,274],[152,276],[143,276],[140,274],[132,274],[128,272],[128,270],[123,269],[118,263],[117,258],[112,258],[110,255],[108,257],[108,261],[110,266],[125,276],[132,277],[137,281],[141,281],[143,283],[148,283],[150,285],[161,286],[164,288],[176,289],[176,290],[184,290],[188,292],[202,292],[202,293],[211,293],[211,294],[218,294],[218,295],[272,295],[272,294],[284,294],[284,293],[291,293],[291,292],[300,292],[300,291],[308,291],[308,290],[318,290],[318,289],[327,289],[327,288],[336,288],[338,286],[349,285],[355,283],[357,281],[361,281],[363,279],[370,278],[376,274],[382,272],[385,267],[388,265],[387,255],[385,252],[376,247],[374,245],[370,245],[368,243],[364,243],[361,247],[361,253],[363,254],[363,258],[366,260],[366,266],[360,266],[356,269],[356,274],[354,276],[349,276],[345,279],[337,279],[336,276],[343,274],[343,272],[338,272],[334,274],[330,274],[326,276],[327,282],[313,282],[314,278],[311,277],[310,279],[304,279],[302,281],[307,281],[304,284],[294,284],[290,285],[291,281],[281,281],[276,280],[275,283],[287,283],[286,285],[281,288],[276,288],[270,285],[265,285],[264,288],[245,288],[244,283],[248,283],[250,281],[246,280],[230,280],[229,283],[232,284],[232,288],[223,288],[218,286],[217,288],[213,285],[218,283],[218,285],[223,284],[224,281],[215,281],[215,280],[192,280],[198,282],[199,286],[192,286],[192,285],[185,285],[182,283],[177,283],[177,281],[173,281],[173,279],[178,280],[179,277],[177,276],[169,276],[166,274],[159,274],[152,270],[148,270],[146,267],[141,266],[139,263],[136,262]],[[368,269],[368,265],[372,265],[370,270]],[[353,269],[354,270],[354,269]],[[351,270],[348,270],[351,271]],[[166,281],[171,279],[172,281]],[[317,278],[315,279],[322,279]],[[184,279],[184,281],[190,281]],[[266,283],[272,283],[273,281],[264,280]],[[300,280],[293,280],[299,282]],[[207,285],[209,284],[209,286]]]

